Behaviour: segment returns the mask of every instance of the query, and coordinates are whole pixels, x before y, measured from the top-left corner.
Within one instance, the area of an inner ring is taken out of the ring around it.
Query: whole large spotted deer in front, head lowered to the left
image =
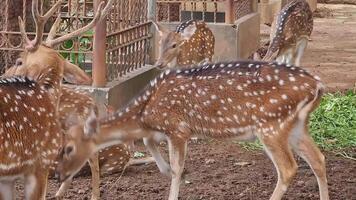
[[[317,77],[283,64],[239,61],[167,69],[114,115],[98,121],[92,112],[70,128],[58,165],[60,179],[72,177],[99,149],[160,131],[169,145],[169,199],[176,200],[192,135],[258,138],[278,174],[270,199],[282,198],[297,171],[294,150],[313,169],[320,199],[327,200],[324,156],[307,128],[322,93]]]

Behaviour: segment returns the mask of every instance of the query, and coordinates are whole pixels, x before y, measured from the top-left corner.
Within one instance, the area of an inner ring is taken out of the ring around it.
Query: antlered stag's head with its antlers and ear
[[[57,3],[46,14],[40,15],[38,10],[38,0],[32,1],[32,15],[36,24],[36,36],[33,40],[28,38],[25,32],[24,22],[19,17],[20,32],[25,50],[16,62],[16,68],[20,69],[16,70],[16,74],[28,76],[44,83],[49,88],[60,84],[63,77],[67,81],[75,84],[91,83],[91,78],[89,78],[84,71],[82,71],[78,66],[65,60],[53,48],[61,42],[77,37],[93,28],[98,21],[106,17],[106,14],[111,8],[112,0],[108,2],[105,8],[103,8],[104,2],[100,3],[94,19],[88,25],[61,37],[55,38],[56,30],[60,24],[60,12],[58,12],[57,19],[52,26],[46,41],[43,41],[45,23],[55,11],[60,10],[62,2],[63,0],[57,1]]]

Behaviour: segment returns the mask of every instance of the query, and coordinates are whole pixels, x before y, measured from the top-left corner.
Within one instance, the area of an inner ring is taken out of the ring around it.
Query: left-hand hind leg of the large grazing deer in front
[[[279,133],[279,135],[283,135]],[[267,155],[272,160],[277,170],[278,181],[270,200],[280,200],[297,172],[297,163],[289,148],[288,142],[283,141],[279,135],[265,136],[261,141]]]

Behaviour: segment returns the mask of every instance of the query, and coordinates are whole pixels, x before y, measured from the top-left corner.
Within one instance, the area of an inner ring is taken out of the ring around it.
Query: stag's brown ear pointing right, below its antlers
[[[68,60],[64,62],[64,79],[72,84],[90,85],[91,78],[77,65],[70,63]]]

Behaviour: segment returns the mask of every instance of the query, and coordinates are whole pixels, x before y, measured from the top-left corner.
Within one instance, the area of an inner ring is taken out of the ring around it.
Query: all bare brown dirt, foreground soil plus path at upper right
[[[318,74],[331,90],[354,88],[356,6],[327,8],[332,10],[332,16],[315,19],[312,41],[302,64]],[[356,154],[356,149],[350,151]],[[331,199],[356,200],[356,162],[324,153]],[[298,163],[298,174],[284,199],[318,199],[311,169],[300,159]],[[246,151],[231,142],[202,141],[188,146],[180,199],[268,199],[276,177],[272,162],[261,151]],[[169,183],[154,164],[131,166],[121,178],[120,174],[104,177],[101,195],[102,199],[167,199]],[[55,180],[50,180],[48,196],[53,196],[58,187]],[[65,198],[89,199],[90,192],[90,176],[79,177]]]

